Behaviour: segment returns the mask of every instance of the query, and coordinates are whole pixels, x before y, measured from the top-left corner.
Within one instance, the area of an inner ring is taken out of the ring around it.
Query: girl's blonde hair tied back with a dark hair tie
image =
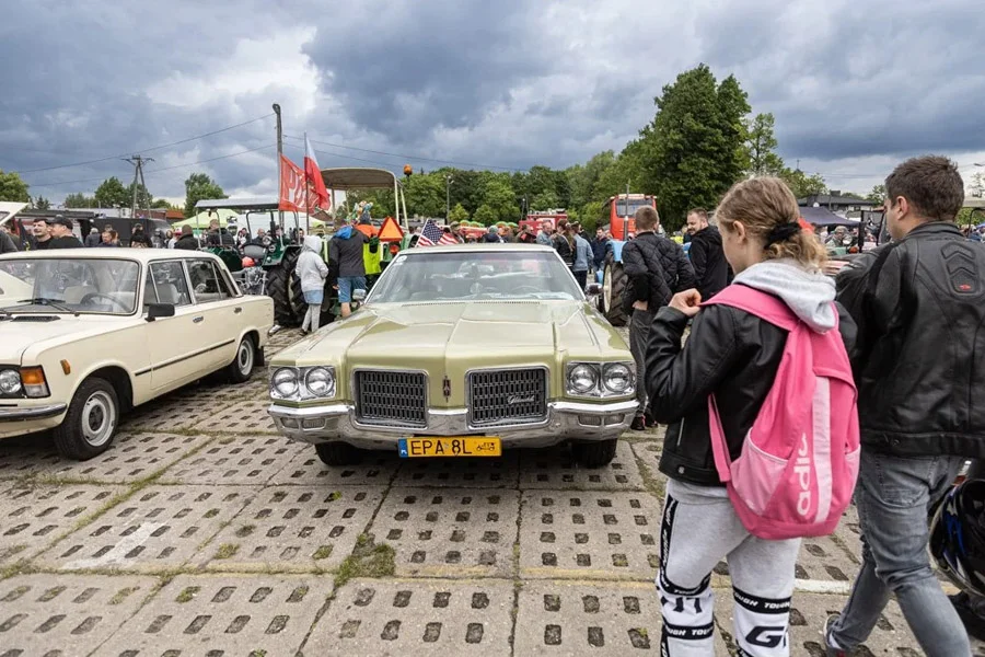
[[[820,269],[827,261],[827,251],[813,232],[800,228],[800,208],[787,184],[777,177],[755,177],[732,185],[715,218],[729,231],[740,221],[752,235],[763,240],[765,260],[792,258],[800,265]],[[800,230],[785,231],[796,224]],[[770,238],[780,238],[772,243]],[[789,234],[783,235],[784,232]]]

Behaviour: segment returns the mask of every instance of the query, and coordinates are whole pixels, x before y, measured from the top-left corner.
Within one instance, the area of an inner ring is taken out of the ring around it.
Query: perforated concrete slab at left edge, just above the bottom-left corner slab
[[[40,552],[125,489],[80,484],[24,485],[4,491],[0,495],[0,564]]]

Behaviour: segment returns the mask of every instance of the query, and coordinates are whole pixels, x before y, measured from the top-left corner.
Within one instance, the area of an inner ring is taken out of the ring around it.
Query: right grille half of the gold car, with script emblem
[[[484,370],[468,374],[468,424],[495,427],[547,419],[547,371]]]

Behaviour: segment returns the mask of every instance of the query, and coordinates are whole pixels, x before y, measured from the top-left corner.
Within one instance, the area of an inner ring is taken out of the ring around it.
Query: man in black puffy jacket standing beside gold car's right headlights
[[[629,350],[636,361],[636,399],[639,411],[633,420],[633,428],[646,429],[647,387],[646,357],[647,341],[653,315],[667,306],[671,297],[695,287],[694,270],[681,245],[657,234],[660,216],[650,206],[639,208],[635,215],[637,237],[623,246],[623,269],[629,277],[629,286],[624,292],[624,303],[631,303],[628,311]],[[650,423],[652,425],[652,422]]]

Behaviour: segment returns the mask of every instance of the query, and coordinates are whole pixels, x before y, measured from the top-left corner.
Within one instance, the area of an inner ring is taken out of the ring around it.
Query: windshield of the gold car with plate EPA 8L
[[[583,298],[575,277],[553,253],[436,250],[394,260],[367,302]]]

